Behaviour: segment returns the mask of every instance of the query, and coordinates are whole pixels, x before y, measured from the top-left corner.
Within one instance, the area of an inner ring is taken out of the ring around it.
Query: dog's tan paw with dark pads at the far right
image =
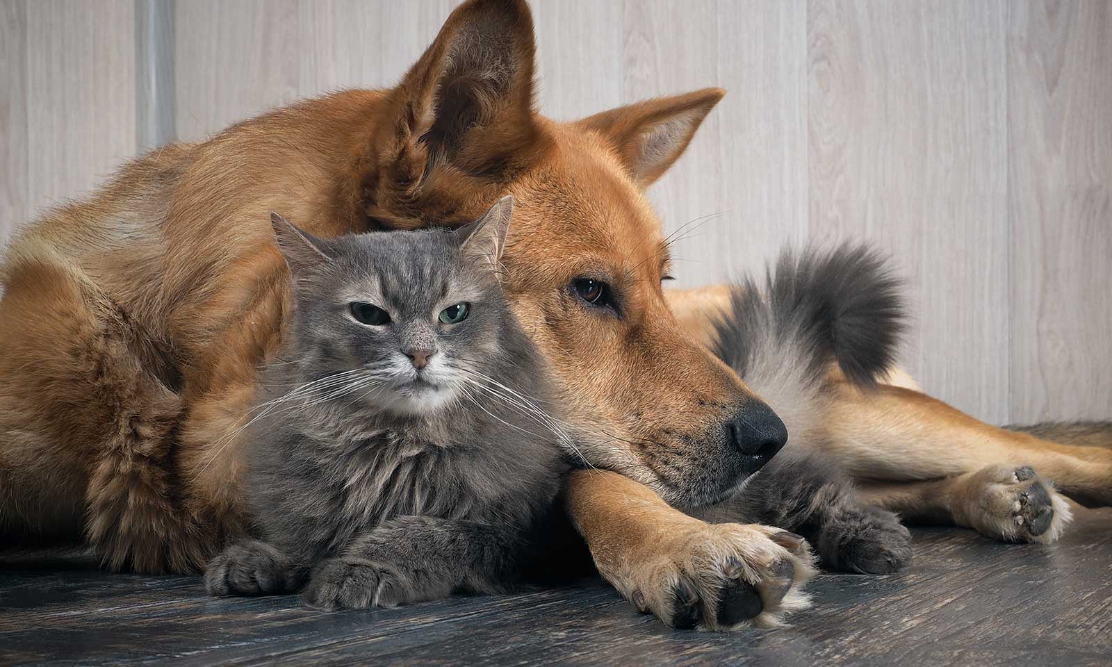
[[[995,539],[1051,544],[1073,519],[1053,485],[1026,466],[982,468],[956,491],[954,518]]]

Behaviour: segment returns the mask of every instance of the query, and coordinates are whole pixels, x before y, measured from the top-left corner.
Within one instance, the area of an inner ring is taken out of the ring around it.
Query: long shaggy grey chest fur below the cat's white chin
[[[270,541],[310,563],[403,516],[524,529],[556,495],[560,455],[509,419],[285,412],[256,431],[252,515]]]

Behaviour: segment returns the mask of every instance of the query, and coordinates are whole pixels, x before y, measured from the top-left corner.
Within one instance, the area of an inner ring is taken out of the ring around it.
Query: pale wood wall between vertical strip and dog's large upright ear
[[[450,0],[179,0],[178,137],[197,139],[298,98],[394,83]]]

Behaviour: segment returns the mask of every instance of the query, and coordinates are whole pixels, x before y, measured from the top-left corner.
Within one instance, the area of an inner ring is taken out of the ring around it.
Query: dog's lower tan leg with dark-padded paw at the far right
[[[1026,466],[986,466],[925,481],[862,485],[863,501],[910,521],[955,524],[1005,541],[1051,544],[1073,518],[1053,485]]]

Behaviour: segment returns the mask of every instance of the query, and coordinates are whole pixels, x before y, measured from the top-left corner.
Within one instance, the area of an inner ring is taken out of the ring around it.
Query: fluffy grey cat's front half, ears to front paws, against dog
[[[261,539],[212,560],[210,594],[389,607],[520,576],[567,466],[498,281],[512,208],[331,240],[271,216],[294,311],[248,437]]]

